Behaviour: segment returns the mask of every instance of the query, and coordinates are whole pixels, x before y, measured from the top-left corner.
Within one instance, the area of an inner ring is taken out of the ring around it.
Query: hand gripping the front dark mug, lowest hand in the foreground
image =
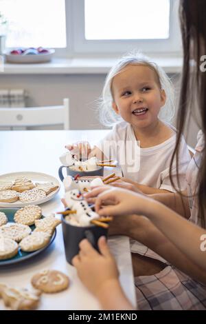
[[[84,239],[80,242],[80,253],[72,259],[80,280],[95,296],[98,296],[106,285],[118,283],[119,276],[115,259],[104,236],[100,237],[98,247],[101,254]]]

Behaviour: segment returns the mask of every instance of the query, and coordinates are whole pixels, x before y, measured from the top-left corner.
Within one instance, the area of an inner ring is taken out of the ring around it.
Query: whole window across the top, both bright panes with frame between
[[[8,47],[60,56],[181,52],[179,0],[0,0]]]

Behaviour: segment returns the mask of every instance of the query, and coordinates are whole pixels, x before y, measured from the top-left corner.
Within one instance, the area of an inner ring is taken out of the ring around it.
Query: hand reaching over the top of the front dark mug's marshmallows
[[[99,190],[99,188],[95,189]],[[94,191],[94,190],[93,190]],[[122,188],[105,190],[95,200],[95,211],[100,216],[128,214],[149,214],[154,201],[147,196],[124,190]]]

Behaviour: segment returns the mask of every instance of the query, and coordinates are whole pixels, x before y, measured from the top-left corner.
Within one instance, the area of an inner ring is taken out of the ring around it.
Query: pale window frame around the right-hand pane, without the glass
[[[170,37],[168,39],[141,40],[87,40],[84,37],[84,0],[66,1],[70,46],[73,54],[122,54],[139,48],[146,53],[181,54],[181,33],[179,30],[179,0],[170,0]],[[69,45],[69,43],[68,43]],[[67,45],[67,46],[68,46]],[[161,48],[161,51],[159,50]]]

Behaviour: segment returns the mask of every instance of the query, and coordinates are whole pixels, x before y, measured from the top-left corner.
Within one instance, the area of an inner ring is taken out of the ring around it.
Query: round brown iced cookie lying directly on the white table
[[[45,270],[33,276],[32,285],[42,292],[62,292],[69,287],[69,278],[60,271]]]

